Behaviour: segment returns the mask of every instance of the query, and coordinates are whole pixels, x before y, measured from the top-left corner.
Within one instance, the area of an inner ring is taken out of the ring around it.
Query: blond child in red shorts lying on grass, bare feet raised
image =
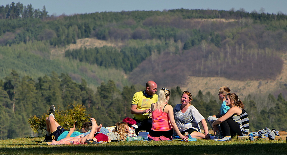
[[[94,118],[91,118],[92,129],[88,135],[82,138],[73,138],[70,140],[60,140],[60,141],[52,141],[52,145],[54,144],[84,144],[84,143],[96,143],[100,141],[110,142],[111,140],[125,140],[127,135],[129,134],[129,127],[125,122],[117,122],[115,124],[115,129],[111,132],[108,132],[106,135],[103,133],[99,133],[101,126],[97,125],[97,122]]]

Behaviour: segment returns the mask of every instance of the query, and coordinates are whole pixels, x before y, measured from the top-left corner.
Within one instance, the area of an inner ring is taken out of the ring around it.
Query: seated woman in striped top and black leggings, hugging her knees
[[[223,138],[216,140],[230,141],[231,136],[248,136],[249,118],[244,110],[242,101],[238,99],[235,93],[228,93],[225,102],[230,109],[224,115],[220,115],[220,118],[212,123],[214,133],[218,130],[218,124],[220,124],[223,133]]]

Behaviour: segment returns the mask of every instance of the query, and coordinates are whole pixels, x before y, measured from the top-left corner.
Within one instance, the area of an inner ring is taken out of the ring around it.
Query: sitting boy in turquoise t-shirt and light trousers
[[[226,106],[226,103],[225,103],[226,95],[228,93],[230,93],[229,87],[222,86],[222,87],[219,88],[218,91],[219,91],[218,99],[222,102],[221,107],[220,107],[220,111],[219,111],[219,113],[217,115],[209,116],[207,118],[207,122],[209,122],[209,124],[210,124],[212,129],[213,129],[212,123],[215,122],[219,118],[220,115],[225,114],[230,109],[230,107]],[[220,125],[218,125],[217,127],[218,127],[218,130],[220,132],[219,134],[222,135],[222,131],[221,131]]]

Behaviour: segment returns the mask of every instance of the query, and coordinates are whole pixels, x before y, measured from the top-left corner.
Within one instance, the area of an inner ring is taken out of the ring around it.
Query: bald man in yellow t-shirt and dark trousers
[[[132,97],[131,113],[137,121],[138,128],[135,129],[136,134],[141,130],[150,132],[152,127],[152,118],[148,118],[151,113],[151,104],[157,102],[156,93],[157,85],[153,81],[146,82],[146,90],[136,92]]]

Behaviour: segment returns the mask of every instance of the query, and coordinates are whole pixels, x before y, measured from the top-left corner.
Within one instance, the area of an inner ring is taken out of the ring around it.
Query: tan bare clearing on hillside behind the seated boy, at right
[[[239,97],[245,97],[249,94],[268,95],[273,94],[280,89],[280,83],[287,83],[287,55],[282,55],[284,60],[281,73],[275,80],[252,80],[252,81],[234,81],[221,77],[188,77],[185,86],[182,90],[191,91],[196,95],[199,90],[204,94],[208,91],[213,95],[217,95],[218,89],[221,86],[228,86],[232,92],[235,92]]]

